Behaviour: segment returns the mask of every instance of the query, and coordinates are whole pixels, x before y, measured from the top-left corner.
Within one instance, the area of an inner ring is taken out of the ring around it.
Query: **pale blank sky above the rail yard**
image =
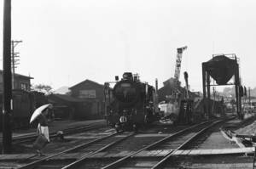
[[[174,76],[177,48],[188,46],[182,85],[187,71],[192,91],[201,91],[201,63],[236,54],[243,85],[256,87],[255,8],[253,0],[12,0],[12,39],[22,40],[15,72],[58,88],[131,71],[161,87]],[[3,1],[0,18],[3,30]]]

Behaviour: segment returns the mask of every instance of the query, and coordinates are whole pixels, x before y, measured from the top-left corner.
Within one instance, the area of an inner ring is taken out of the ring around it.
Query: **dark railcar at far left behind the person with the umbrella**
[[[39,106],[46,104],[44,93],[15,89],[12,92],[13,110],[11,112],[12,127],[29,127],[32,112]],[[0,93],[0,110],[3,110],[3,93]],[[0,115],[0,129],[2,130],[2,113]]]

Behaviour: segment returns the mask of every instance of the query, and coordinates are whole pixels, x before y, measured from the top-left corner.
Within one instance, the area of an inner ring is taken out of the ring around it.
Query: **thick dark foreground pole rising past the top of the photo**
[[[3,154],[12,149],[11,0],[3,2]]]

